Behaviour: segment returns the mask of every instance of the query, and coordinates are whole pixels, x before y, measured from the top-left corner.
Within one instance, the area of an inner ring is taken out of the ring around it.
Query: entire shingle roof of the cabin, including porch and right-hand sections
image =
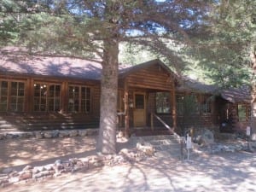
[[[28,55],[24,54],[24,51],[20,52],[17,48],[0,49],[0,55],[0,73],[32,74],[97,81],[102,76],[102,64],[100,61],[88,61],[64,56]],[[119,77],[125,77],[125,75],[133,73],[140,68],[156,63],[164,67],[167,72],[172,73],[172,70],[166,67],[160,60],[153,60],[137,66],[119,65]],[[216,85],[203,84],[193,79],[174,75],[179,84],[177,91],[195,91],[214,94],[218,90],[218,86]],[[230,102],[250,102],[252,98],[250,90],[247,87],[222,90],[220,96]]]

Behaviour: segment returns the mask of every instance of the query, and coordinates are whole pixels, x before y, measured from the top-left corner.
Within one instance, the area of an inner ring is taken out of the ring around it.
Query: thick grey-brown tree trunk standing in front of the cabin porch
[[[116,153],[118,55],[118,40],[109,38],[104,42],[100,132],[96,148],[102,154]]]

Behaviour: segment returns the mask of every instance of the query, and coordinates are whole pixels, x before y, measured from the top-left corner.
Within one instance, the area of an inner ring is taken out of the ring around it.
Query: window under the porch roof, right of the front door
[[[156,113],[171,113],[170,93],[157,92],[155,94]]]

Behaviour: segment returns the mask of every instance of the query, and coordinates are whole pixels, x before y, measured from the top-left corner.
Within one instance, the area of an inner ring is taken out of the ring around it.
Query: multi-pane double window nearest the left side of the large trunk
[[[73,113],[90,113],[91,89],[85,86],[68,87],[68,111]]]

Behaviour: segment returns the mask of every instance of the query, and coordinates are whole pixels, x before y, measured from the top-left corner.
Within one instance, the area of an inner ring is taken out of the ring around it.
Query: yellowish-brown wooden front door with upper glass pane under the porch
[[[133,125],[146,125],[145,93],[134,93]]]

